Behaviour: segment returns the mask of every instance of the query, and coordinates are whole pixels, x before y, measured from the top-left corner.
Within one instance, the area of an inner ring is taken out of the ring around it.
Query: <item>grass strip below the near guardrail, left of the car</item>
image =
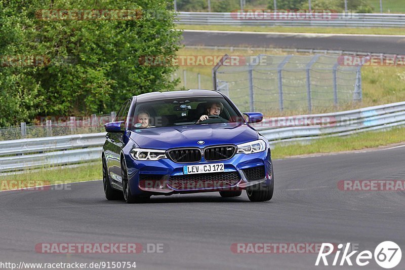
[[[45,167],[0,176],[0,190],[102,179],[101,161],[74,168]]]

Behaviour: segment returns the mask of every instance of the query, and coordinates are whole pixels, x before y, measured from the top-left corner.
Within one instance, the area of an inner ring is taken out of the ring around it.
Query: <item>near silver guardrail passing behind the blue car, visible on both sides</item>
[[[253,126],[272,145],[405,125],[405,102],[355,110],[267,118]],[[0,141],[0,172],[99,160],[105,132]]]

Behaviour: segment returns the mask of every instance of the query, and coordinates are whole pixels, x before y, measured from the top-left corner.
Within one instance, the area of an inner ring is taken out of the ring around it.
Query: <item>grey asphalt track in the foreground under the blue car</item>
[[[382,269],[314,266],[315,253],[235,254],[232,243],[357,243],[405,253],[404,191],[342,191],[339,180],[405,179],[405,147],[274,161],[275,194],[251,203],[219,194],[106,201],[102,182],[71,190],[0,192],[0,261],[136,261],[137,269]],[[38,243],[163,243],[154,254],[43,254]],[[403,257],[403,256],[402,256]],[[329,259],[332,263],[333,257]],[[353,260],[355,265],[355,259]],[[405,259],[395,269],[405,268]]]

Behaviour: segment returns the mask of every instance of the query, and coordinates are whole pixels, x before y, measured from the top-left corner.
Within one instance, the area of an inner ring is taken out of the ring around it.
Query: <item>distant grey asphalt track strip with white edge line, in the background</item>
[[[405,54],[405,36],[185,30],[192,46],[274,47]]]

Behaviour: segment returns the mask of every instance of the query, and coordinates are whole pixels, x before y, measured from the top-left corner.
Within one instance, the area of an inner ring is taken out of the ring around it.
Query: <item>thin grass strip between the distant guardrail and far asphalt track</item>
[[[405,5],[403,5],[405,7]],[[252,32],[329,33],[329,34],[405,34],[405,29],[383,27],[285,27],[285,26],[232,26],[232,25],[177,25],[177,29],[222,30]]]

